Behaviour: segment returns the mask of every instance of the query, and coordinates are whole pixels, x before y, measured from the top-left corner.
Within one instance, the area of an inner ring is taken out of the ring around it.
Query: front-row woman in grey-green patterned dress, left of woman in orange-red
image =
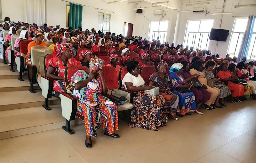
[[[208,80],[208,79],[212,79],[215,81],[214,83],[214,87],[220,89],[220,94],[218,95],[216,101],[215,101],[215,105],[218,107],[218,108],[222,108],[221,106],[227,106],[225,105],[224,103],[224,98],[231,95],[231,92],[230,90],[228,89],[228,87],[226,85],[223,85],[220,83],[220,81],[214,77],[214,74],[212,73],[212,70],[215,66],[215,62],[212,61],[212,60],[208,60],[206,63],[205,63],[205,70],[203,71],[203,73],[205,74],[205,78]],[[220,101],[220,105],[219,105],[219,100],[221,99]]]

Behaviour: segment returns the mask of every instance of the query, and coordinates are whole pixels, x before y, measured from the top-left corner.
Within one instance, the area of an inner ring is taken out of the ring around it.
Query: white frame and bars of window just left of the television
[[[187,24],[186,24],[186,30],[185,30],[185,35],[184,35],[184,41],[183,41],[183,45],[184,46],[186,46],[187,45],[187,43],[188,43],[188,39],[187,39],[187,42],[186,42],[186,36],[187,36],[187,33],[188,33],[188,35],[189,35],[189,33],[193,33],[193,40],[194,40],[194,42],[192,43],[192,45],[189,45],[189,46],[192,46],[192,47],[195,47],[195,41],[196,41],[196,39],[194,39],[194,38],[196,38],[196,34],[200,34],[200,36],[199,36],[199,41],[198,41],[198,49],[202,49],[202,39],[203,39],[203,34],[208,34],[208,39],[207,39],[207,42],[206,42],[206,47],[205,47],[205,50],[207,50],[208,49],[208,47],[209,47],[209,36],[210,36],[210,33],[211,33],[211,31],[210,32],[199,32],[199,29],[200,29],[200,26],[201,26],[201,21],[204,21],[204,20],[212,20],[213,21],[213,23],[214,23],[214,19],[196,19],[196,20],[187,20]],[[188,32],[188,23],[189,23],[189,21],[200,21],[199,22],[199,26],[198,26],[198,30],[197,30],[197,32],[195,32],[195,31],[193,31],[193,32]],[[213,23],[212,23],[212,25],[213,25]],[[202,37],[201,37],[201,34],[202,34]],[[201,39],[201,41],[200,41],[200,39]],[[186,42],[186,43],[185,43]],[[200,43],[200,48],[199,48],[199,43]],[[203,49],[202,49],[203,50]]]

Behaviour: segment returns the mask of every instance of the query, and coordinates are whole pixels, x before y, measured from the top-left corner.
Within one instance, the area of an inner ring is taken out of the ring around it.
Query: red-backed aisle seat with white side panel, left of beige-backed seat
[[[25,72],[25,57],[28,53],[28,43],[32,40],[20,40],[19,43],[19,52],[20,56],[16,56],[16,65],[17,70],[20,73],[20,77],[18,78],[20,81],[24,81],[22,79],[22,73]]]

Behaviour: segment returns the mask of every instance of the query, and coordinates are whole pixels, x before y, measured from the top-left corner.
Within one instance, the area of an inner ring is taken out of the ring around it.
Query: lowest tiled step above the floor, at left
[[[42,106],[0,111],[0,140],[27,135],[65,126],[61,105],[50,105],[50,111]],[[71,125],[84,123],[72,120]],[[68,133],[67,133],[68,134]]]

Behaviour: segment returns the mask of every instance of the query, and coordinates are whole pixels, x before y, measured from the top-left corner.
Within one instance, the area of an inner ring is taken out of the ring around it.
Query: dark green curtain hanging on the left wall
[[[69,4],[69,27],[74,30],[82,27],[83,6],[78,4]]]

